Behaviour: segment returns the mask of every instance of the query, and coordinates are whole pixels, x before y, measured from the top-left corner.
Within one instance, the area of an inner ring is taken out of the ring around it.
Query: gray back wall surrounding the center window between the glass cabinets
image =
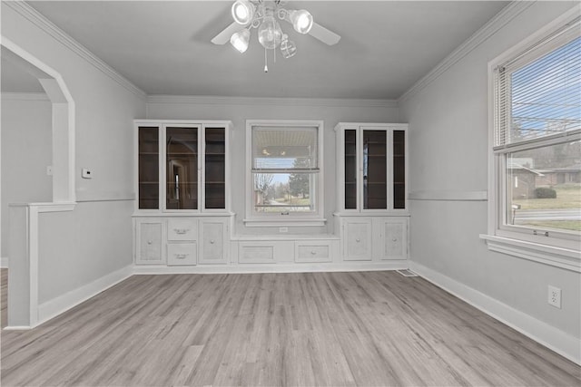
[[[156,97],[159,98],[159,97]],[[236,232],[239,234],[272,234],[278,233],[273,227],[245,227],[245,165],[246,165],[246,120],[323,120],[324,121],[324,208],[326,227],[289,227],[289,233],[333,232],[333,211],[336,203],[336,168],[335,168],[335,125],[340,121],[362,122],[399,122],[398,108],[395,103],[365,103],[341,100],[288,100],[261,104],[260,100],[224,99],[222,103],[204,102],[196,98],[195,102],[148,102],[149,119],[192,119],[192,120],[230,120],[234,124],[232,133],[232,209],[236,213]],[[238,101],[238,102],[236,102]]]

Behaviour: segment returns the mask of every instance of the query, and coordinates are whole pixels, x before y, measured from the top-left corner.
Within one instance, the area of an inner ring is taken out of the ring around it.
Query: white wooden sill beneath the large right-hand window
[[[481,234],[480,238],[486,240],[488,250],[581,273],[581,253],[579,250],[486,234]]]

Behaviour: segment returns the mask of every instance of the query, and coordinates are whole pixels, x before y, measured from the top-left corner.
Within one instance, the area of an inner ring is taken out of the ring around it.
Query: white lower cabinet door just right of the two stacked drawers
[[[228,239],[227,220],[201,220],[200,221],[202,249],[200,251],[200,264],[227,264],[229,249],[226,247]]]

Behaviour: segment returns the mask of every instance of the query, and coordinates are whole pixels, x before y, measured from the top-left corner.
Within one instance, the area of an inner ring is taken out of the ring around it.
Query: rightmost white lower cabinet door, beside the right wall
[[[408,218],[379,218],[379,257],[408,259]]]

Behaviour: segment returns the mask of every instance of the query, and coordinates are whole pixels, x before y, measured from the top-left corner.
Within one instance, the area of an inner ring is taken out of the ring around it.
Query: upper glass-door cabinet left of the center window
[[[228,210],[230,121],[136,121],[137,210]]]

